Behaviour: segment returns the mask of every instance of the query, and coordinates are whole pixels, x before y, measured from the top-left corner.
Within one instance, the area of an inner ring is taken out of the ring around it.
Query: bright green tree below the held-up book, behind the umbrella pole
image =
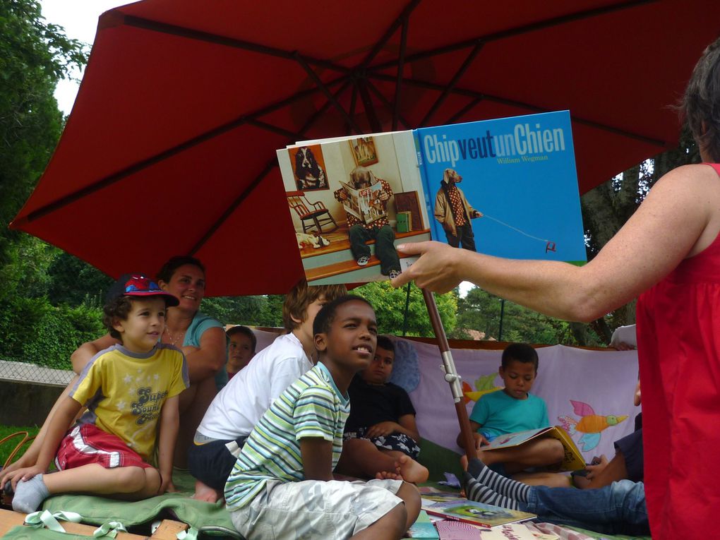
[[[407,288],[395,289],[390,282],[371,282],[353,289],[352,294],[358,294],[372,304],[377,315],[378,330],[380,333],[402,335],[407,328],[408,336],[435,336],[428,308],[423,300],[423,293],[413,284],[410,287],[410,305],[408,317],[405,318],[405,300]],[[435,302],[438,306],[440,319],[445,333],[451,333],[455,328],[455,312],[457,309],[457,296],[455,292],[436,294]]]

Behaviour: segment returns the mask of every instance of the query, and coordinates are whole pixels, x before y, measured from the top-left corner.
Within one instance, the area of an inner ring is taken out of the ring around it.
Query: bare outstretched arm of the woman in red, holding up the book
[[[397,246],[418,261],[392,280],[446,292],[462,280],[552,317],[590,321],[629,302],[706,248],[720,230],[720,184],[708,166],[670,171],[585,266],[518,261],[436,242]]]

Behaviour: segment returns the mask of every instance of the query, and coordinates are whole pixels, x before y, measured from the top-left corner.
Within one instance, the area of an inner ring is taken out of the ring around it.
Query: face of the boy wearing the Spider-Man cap
[[[147,353],[157,345],[165,329],[165,300],[141,298],[132,300],[127,319],[116,320],[112,327],[120,332],[122,346],[134,353]]]

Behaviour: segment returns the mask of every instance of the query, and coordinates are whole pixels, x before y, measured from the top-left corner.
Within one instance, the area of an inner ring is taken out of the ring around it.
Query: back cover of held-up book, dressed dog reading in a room
[[[327,189],[298,189],[302,148],[322,156]],[[389,279],[414,260],[397,244],[431,239],[410,132],[305,141],[277,158],[308,284]]]

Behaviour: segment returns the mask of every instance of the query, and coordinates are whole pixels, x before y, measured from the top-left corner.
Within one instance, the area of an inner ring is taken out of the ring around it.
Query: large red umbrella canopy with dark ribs
[[[580,192],[675,145],[706,0],[145,0],[100,17],[12,227],[112,276],[204,261],[209,294],[302,276],[274,150],[570,109]]]

